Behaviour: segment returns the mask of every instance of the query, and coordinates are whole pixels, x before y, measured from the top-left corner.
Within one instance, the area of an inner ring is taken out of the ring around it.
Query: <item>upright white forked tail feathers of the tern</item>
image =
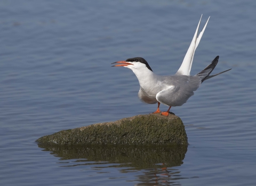
[[[199,25],[201,23],[202,16],[203,16],[203,14],[201,15],[201,18],[200,18],[199,23],[198,23],[197,28],[196,28],[195,35],[194,35],[194,37],[191,41],[191,44],[190,44],[190,46],[188,48],[188,51],[187,51],[187,53],[184,57],[184,60],[183,60],[181,66],[180,66],[180,68],[179,68],[179,70],[177,71],[176,74],[190,75],[190,70],[191,70],[191,66],[192,66],[192,63],[193,63],[193,58],[194,58],[194,55],[195,55],[196,48],[197,48],[197,46],[198,46],[198,44],[199,44],[199,42],[200,42],[200,40],[201,40],[201,38],[204,34],[204,30],[207,26],[207,23],[208,23],[209,19],[210,19],[210,16],[209,16],[209,18],[207,19],[207,21],[204,25],[203,30],[198,35],[198,29],[199,29]]]

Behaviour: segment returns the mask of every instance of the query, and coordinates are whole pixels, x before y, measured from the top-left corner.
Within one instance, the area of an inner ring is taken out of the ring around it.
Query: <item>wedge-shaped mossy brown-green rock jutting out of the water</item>
[[[36,141],[45,145],[188,145],[185,126],[173,114],[127,117],[62,130]]]

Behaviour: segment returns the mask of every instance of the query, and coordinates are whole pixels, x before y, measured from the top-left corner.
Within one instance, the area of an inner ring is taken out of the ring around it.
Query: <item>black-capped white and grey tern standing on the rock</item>
[[[202,82],[231,70],[228,69],[223,72],[210,75],[215,66],[218,64],[219,56],[217,56],[214,58],[211,64],[205,67],[204,70],[196,75],[190,75],[195,50],[203,36],[210,16],[207,19],[202,31],[198,34],[201,19],[202,15],[188,51],[181,63],[179,70],[174,75],[155,74],[148,62],[142,57],[133,57],[128,58],[125,61],[111,63],[115,64],[113,66],[123,66],[133,71],[140,84],[138,97],[140,100],[142,100],[142,102],[148,104],[157,103],[157,109],[154,113],[161,113],[162,115],[168,116],[171,107],[181,106],[186,103],[187,100],[194,95],[194,91],[199,88]],[[166,112],[160,111],[159,106],[161,103],[169,106]]]

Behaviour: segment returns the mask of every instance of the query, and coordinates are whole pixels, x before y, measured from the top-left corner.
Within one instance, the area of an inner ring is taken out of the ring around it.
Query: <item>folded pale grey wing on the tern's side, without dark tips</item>
[[[158,102],[167,106],[181,106],[194,95],[194,91],[201,84],[201,79],[198,77],[184,77],[175,81],[172,86],[159,91],[156,95]],[[187,78],[187,79],[186,79]]]

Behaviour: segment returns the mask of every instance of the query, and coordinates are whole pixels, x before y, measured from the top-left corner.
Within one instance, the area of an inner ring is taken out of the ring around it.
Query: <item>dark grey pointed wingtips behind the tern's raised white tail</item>
[[[204,70],[202,70],[201,72],[196,74],[196,76],[201,78],[201,81],[203,82],[203,81],[210,79],[216,75],[219,75],[219,74],[222,74],[224,72],[231,70],[231,69],[228,69],[228,70],[220,72],[218,74],[210,75],[212,73],[212,71],[214,70],[215,66],[218,64],[218,61],[219,61],[219,56],[215,57],[214,60],[212,61],[212,63],[210,65],[206,66]]]

